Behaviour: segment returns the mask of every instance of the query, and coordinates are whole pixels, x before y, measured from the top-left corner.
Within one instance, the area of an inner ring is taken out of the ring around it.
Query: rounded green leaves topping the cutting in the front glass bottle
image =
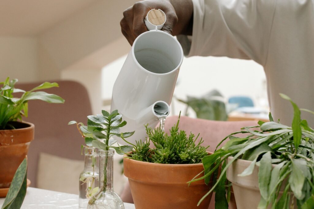
[[[122,121],[122,115],[117,110],[111,113],[102,110],[102,114],[87,116],[87,126],[83,123],[70,121],[68,125],[76,124],[78,132],[85,138],[85,144],[88,147],[95,147],[97,149],[109,150],[115,149],[118,154],[125,154],[132,150],[132,146],[112,146],[116,143],[112,136],[127,138],[133,135],[133,132],[120,133],[120,128],[127,124]]]

